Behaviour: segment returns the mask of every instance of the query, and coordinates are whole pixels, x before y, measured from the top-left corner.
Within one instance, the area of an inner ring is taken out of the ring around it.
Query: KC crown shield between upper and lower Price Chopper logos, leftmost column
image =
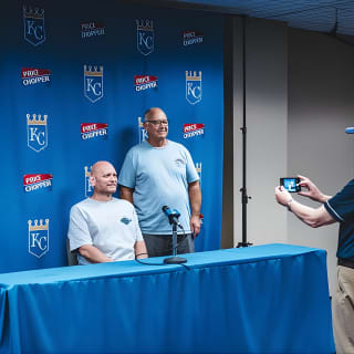
[[[27,145],[35,153],[43,150],[48,146],[46,132],[48,115],[31,115],[27,114]]]

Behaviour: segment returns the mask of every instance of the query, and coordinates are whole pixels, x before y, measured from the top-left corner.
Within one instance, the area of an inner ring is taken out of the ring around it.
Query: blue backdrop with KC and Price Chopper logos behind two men
[[[1,2],[0,272],[64,266],[72,205],[98,159],[119,170],[159,106],[191,153],[204,225],[220,247],[221,15],[118,1]],[[169,206],[174,207],[174,206]]]

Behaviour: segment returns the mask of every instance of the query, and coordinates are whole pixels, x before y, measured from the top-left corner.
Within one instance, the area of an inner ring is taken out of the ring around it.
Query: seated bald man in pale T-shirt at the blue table
[[[79,264],[146,258],[147,251],[133,205],[112,197],[117,188],[117,174],[107,162],[91,168],[94,188],[71,208],[67,238],[70,250],[77,251]]]

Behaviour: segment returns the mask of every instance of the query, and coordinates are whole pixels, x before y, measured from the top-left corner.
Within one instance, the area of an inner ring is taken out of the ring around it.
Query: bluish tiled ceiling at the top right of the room
[[[284,21],[289,27],[354,35],[354,0],[174,0],[218,12]]]

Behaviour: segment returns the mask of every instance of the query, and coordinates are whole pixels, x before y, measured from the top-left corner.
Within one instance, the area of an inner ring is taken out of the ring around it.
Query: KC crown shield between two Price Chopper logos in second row
[[[92,103],[103,97],[103,66],[84,65],[84,94]]]

